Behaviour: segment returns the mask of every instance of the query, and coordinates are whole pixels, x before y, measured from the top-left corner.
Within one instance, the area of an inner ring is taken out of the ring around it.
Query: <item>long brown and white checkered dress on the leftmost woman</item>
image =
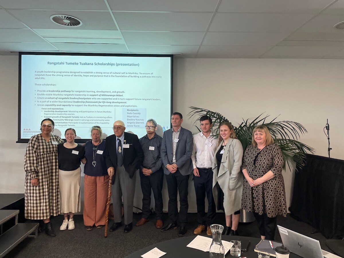
[[[32,136],[24,157],[25,218],[46,219],[60,214],[60,189],[58,186],[57,144],[64,141],[51,135],[49,142],[39,135]],[[38,178],[38,186],[31,179]]]

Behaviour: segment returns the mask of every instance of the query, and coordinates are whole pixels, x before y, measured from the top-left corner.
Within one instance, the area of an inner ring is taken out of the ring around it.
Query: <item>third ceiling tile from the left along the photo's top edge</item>
[[[223,0],[218,12],[317,13],[333,0]]]

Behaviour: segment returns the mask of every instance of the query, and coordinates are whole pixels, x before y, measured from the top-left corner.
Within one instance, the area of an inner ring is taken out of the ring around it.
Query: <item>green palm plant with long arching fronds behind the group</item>
[[[213,131],[218,135],[219,125],[229,120],[219,112],[214,112],[204,108],[190,107],[189,117],[201,117],[207,115],[213,119]],[[276,121],[277,117],[269,120],[269,115],[260,114],[254,119],[243,119],[237,127],[233,125],[235,133],[243,144],[244,151],[252,143],[253,129],[258,125],[265,125],[274,138],[275,143],[281,148],[283,154],[283,169],[288,164],[291,170],[291,164],[296,163],[296,169],[302,168],[303,161],[307,152],[314,153],[314,149],[300,141],[300,135],[307,133],[306,128],[298,122]],[[197,127],[197,126],[196,126]],[[201,131],[198,127],[197,129]]]

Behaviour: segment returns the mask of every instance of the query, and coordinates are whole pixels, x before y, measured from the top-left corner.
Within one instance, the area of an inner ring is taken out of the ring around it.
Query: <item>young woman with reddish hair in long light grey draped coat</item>
[[[243,193],[243,146],[237,139],[232,123],[220,125],[218,147],[213,159],[213,195],[218,210],[226,215],[223,235],[238,235],[241,195]]]

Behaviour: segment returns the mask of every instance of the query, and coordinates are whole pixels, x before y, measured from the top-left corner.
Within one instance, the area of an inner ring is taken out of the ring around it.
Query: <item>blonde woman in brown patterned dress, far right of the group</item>
[[[257,126],[244,155],[242,207],[253,212],[262,239],[274,240],[277,215],[287,216],[283,156],[266,126]]]

